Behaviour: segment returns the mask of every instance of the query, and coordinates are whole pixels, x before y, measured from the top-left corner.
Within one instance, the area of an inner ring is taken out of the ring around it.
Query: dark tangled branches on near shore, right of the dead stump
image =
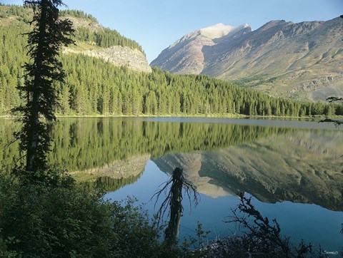
[[[218,248],[224,250],[227,257],[326,257],[320,247],[314,249],[304,241],[294,245],[289,237],[281,234],[276,219],[270,221],[254,207],[252,197],[240,193],[239,199],[239,205],[232,209],[226,222],[237,223],[243,235],[229,239],[226,249],[219,244]]]

